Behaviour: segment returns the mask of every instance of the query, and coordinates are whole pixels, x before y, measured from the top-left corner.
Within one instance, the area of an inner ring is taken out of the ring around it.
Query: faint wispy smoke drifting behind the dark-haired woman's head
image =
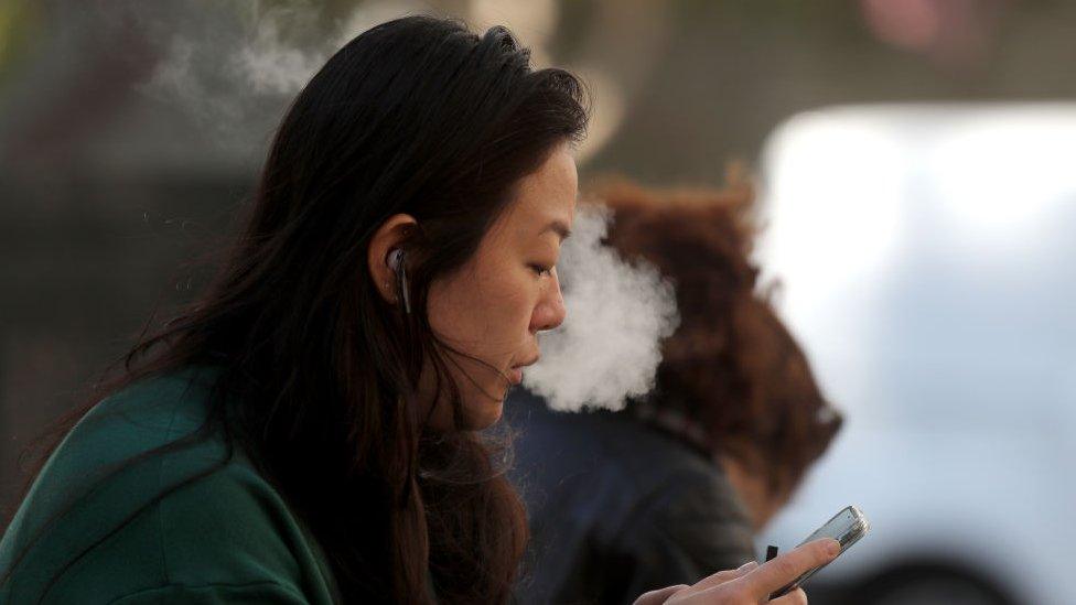
[[[315,0],[131,2],[127,13],[161,41],[142,91],[186,114],[217,143],[261,149],[287,104],[329,56],[370,26],[418,12],[412,2],[355,8]]]

